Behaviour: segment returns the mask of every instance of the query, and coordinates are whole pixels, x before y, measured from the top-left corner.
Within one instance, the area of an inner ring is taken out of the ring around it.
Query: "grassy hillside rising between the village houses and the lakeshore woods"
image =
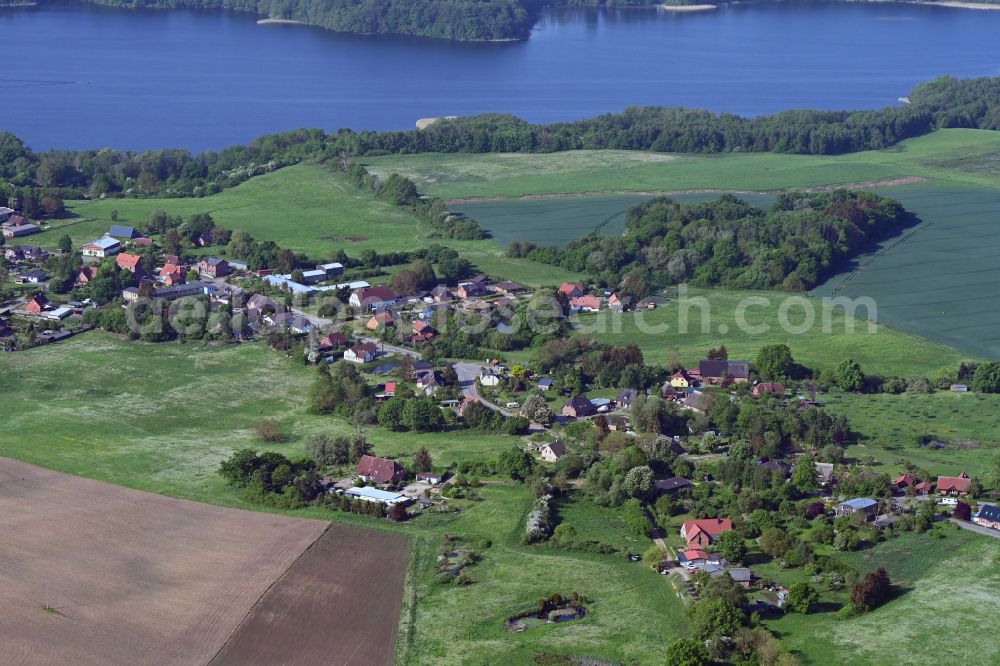
[[[210,213],[228,229],[244,229],[258,240],[304,252],[316,261],[337,250],[357,257],[362,250],[399,252],[432,243],[454,247],[487,273],[528,285],[558,284],[578,277],[562,269],[509,259],[491,240],[451,241],[431,237],[431,229],[409,211],[376,199],[316,164],[287,167],[203,199],[113,199],[69,202],[76,216],[52,229],[17,239],[18,244],[55,248],[63,234],[77,246],[105,234],[112,224],[141,226],[153,211],[187,217]],[[113,211],[118,221],[113,222]]]

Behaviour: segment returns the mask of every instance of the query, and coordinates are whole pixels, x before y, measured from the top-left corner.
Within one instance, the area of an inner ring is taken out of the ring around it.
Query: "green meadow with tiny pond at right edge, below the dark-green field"
[[[980,393],[855,395],[832,393],[827,409],[846,414],[858,434],[848,454],[868,456],[890,473],[907,460],[930,474],[967,472],[982,476],[1000,447],[1000,396]],[[946,448],[922,447],[918,438],[932,437]]]

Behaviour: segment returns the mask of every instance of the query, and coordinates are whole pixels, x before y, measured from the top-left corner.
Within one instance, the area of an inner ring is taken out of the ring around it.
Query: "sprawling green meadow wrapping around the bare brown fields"
[[[303,451],[313,433],[348,433],[336,417],[304,408],[313,371],[263,345],[203,347],[133,343],[98,333],[28,352],[0,355],[0,456],[90,478],[226,506],[276,510],[243,501],[216,475],[243,447]],[[277,418],[289,441],[262,447],[251,423]],[[382,455],[408,457],[426,446],[437,465],[493,459],[517,440],[475,432],[432,435],[367,431]],[[427,514],[404,524],[319,508],[282,511],[401,532],[411,538],[400,661],[413,664],[528,663],[536,651],[659,664],[665,645],[685,631],[683,606],[669,585],[623,557],[568,553],[521,544],[532,500],[510,481],[480,490],[484,501],[453,501],[459,513]],[[584,500],[580,513],[587,513]],[[594,507],[593,515],[613,513]],[[583,521],[581,521],[582,524]],[[594,523],[594,529],[598,525]],[[444,535],[489,539],[473,584],[434,582]],[[594,600],[579,622],[520,635],[510,615],[552,592]]]

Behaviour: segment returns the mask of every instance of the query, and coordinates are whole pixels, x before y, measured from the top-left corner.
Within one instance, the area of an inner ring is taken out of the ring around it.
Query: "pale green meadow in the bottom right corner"
[[[899,595],[848,620],[834,617],[833,603],[825,612],[769,620],[805,666],[1000,661],[995,632],[978,630],[1000,612],[1000,541],[941,525],[843,557],[862,573],[884,567]]]

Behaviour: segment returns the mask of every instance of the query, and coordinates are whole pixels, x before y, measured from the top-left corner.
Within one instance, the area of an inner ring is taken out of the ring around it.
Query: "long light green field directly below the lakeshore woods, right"
[[[1000,133],[940,130],[885,150],[848,155],[679,155],[631,151],[554,154],[421,154],[365,158],[377,173],[400,173],[446,199],[533,194],[775,191],[895,178],[998,186]]]

